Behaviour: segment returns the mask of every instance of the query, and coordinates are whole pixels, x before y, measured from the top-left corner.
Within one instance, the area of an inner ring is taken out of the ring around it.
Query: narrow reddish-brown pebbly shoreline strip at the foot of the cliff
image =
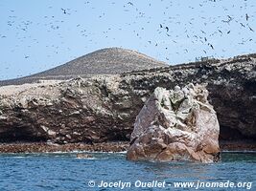
[[[106,152],[117,153],[128,150],[128,141],[102,143],[12,142],[0,143],[0,153],[55,153],[55,152]],[[256,141],[220,141],[221,152],[256,151]]]

